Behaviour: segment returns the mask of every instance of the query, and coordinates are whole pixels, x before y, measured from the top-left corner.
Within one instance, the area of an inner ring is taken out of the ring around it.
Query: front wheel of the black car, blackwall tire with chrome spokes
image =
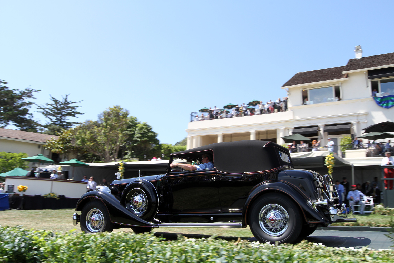
[[[82,208],[80,227],[87,234],[112,232],[113,224],[110,215],[101,201],[91,201]]]

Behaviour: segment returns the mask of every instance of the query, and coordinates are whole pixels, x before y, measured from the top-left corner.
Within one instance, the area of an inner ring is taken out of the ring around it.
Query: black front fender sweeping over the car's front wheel
[[[113,194],[105,191],[90,191],[85,193],[80,198],[80,200],[78,200],[75,211],[81,211],[83,207],[92,200],[102,201],[102,203],[107,208],[108,215],[110,215],[112,223],[126,226],[158,226],[158,224],[153,224],[134,215],[132,212],[123,207],[119,199],[113,196]]]

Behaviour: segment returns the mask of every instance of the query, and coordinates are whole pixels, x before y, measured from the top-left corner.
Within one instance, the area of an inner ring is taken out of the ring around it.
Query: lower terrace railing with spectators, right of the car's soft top
[[[290,145],[291,146],[291,145]],[[341,149],[344,150],[366,150],[366,157],[384,157],[386,151],[390,151],[391,154],[394,154],[394,142],[377,144],[377,143],[365,143],[365,144],[335,144],[331,146],[323,145],[319,147],[300,147],[297,146],[295,149],[291,149],[288,147],[290,153],[302,153],[307,151],[333,151],[334,153],[338,153],[338,155],[344,157],[344,153]]]

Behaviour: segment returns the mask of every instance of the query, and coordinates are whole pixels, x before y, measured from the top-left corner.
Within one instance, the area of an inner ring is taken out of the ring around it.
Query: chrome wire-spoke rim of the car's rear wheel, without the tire
[[[288,228],[289,215],[283,207],[277,204],[263,207],[258,219],[261,229],[268,235],[282,235]]]

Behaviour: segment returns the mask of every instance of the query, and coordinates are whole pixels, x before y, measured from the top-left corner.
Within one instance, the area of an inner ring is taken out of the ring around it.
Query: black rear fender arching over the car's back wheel
[[[257,198],[264,194],[269,194],[270,192],[280,192],[285,196],[288,196],[290,200],[293,200],[296,203],[297,207],[299,207],[301,214],[305,222],[307,223],[329,223],[320,213],[318,213],[315,209],[313,209],[312,205],[308,202],[309,198],[305,196],[305,194],[299,192],[297,189],[294,189],[290,185],[288,185],[284,181],[270,181],[270,182],[262,182],[257,185],[255,188],[251,190],[249,196],[245,202],[243,207],[243,216],[242,216],[242,225],[246,226],[248,223],[247,215],[249,213],[248,209],[250,205]]]

